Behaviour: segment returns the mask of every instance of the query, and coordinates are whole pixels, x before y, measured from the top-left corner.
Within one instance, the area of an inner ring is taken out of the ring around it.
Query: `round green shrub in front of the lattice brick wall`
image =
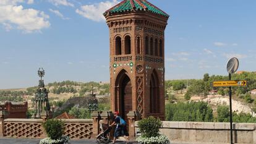
[[[49,119],[43,123],[46,134],[52,140],[58,140],[64,134],[64,122],[58,119]]]

